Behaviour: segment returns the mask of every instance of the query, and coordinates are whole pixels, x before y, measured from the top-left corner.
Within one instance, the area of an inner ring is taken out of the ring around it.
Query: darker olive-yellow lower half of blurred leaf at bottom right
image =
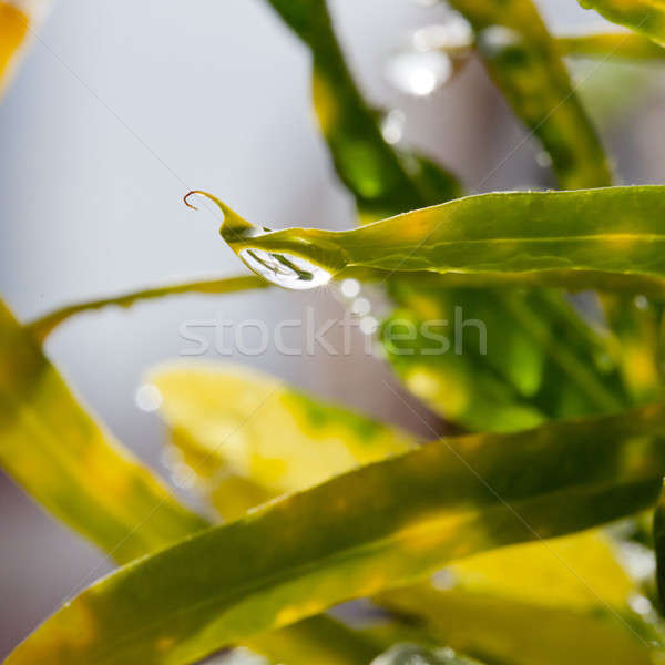
[[[398,614],[423,622],[442,643],[490,663],[652,665],[657,651],[646,635],[632,630],[627,616],[606,610],[571,612],[488,592],[424,586],[417,593],[397,590],[380,600]]]

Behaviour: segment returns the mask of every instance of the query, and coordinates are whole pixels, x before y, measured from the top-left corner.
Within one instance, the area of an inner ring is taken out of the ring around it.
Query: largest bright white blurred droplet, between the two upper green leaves
[[[452,61],[442,51],[400,51],[386,65],[386,78],[400,92],[426,96],[452,74]]]

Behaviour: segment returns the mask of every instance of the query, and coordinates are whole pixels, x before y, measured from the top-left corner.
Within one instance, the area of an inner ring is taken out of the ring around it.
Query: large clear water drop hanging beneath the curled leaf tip
[[[272,284],[284,288],[304,290],[330,282],[328,270],[290,254],[273,254],[263,249],[242,249],[244,264]]]

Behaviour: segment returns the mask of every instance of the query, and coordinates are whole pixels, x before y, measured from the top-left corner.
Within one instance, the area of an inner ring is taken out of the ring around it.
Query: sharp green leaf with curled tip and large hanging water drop
[[[291,288],[320,283],[318,269],[329,276],[348,267],[665,275],[665,187],[658,185],[481,194],[337,232],[263,232],[206,196],[224,212],[221,234],[243,260]]]

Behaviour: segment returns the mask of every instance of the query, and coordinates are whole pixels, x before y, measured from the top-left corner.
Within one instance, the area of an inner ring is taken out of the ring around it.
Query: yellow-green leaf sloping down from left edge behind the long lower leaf
[[[1,303],[0,463],[44,508],[120,562],[206,526],[81,408]]]

